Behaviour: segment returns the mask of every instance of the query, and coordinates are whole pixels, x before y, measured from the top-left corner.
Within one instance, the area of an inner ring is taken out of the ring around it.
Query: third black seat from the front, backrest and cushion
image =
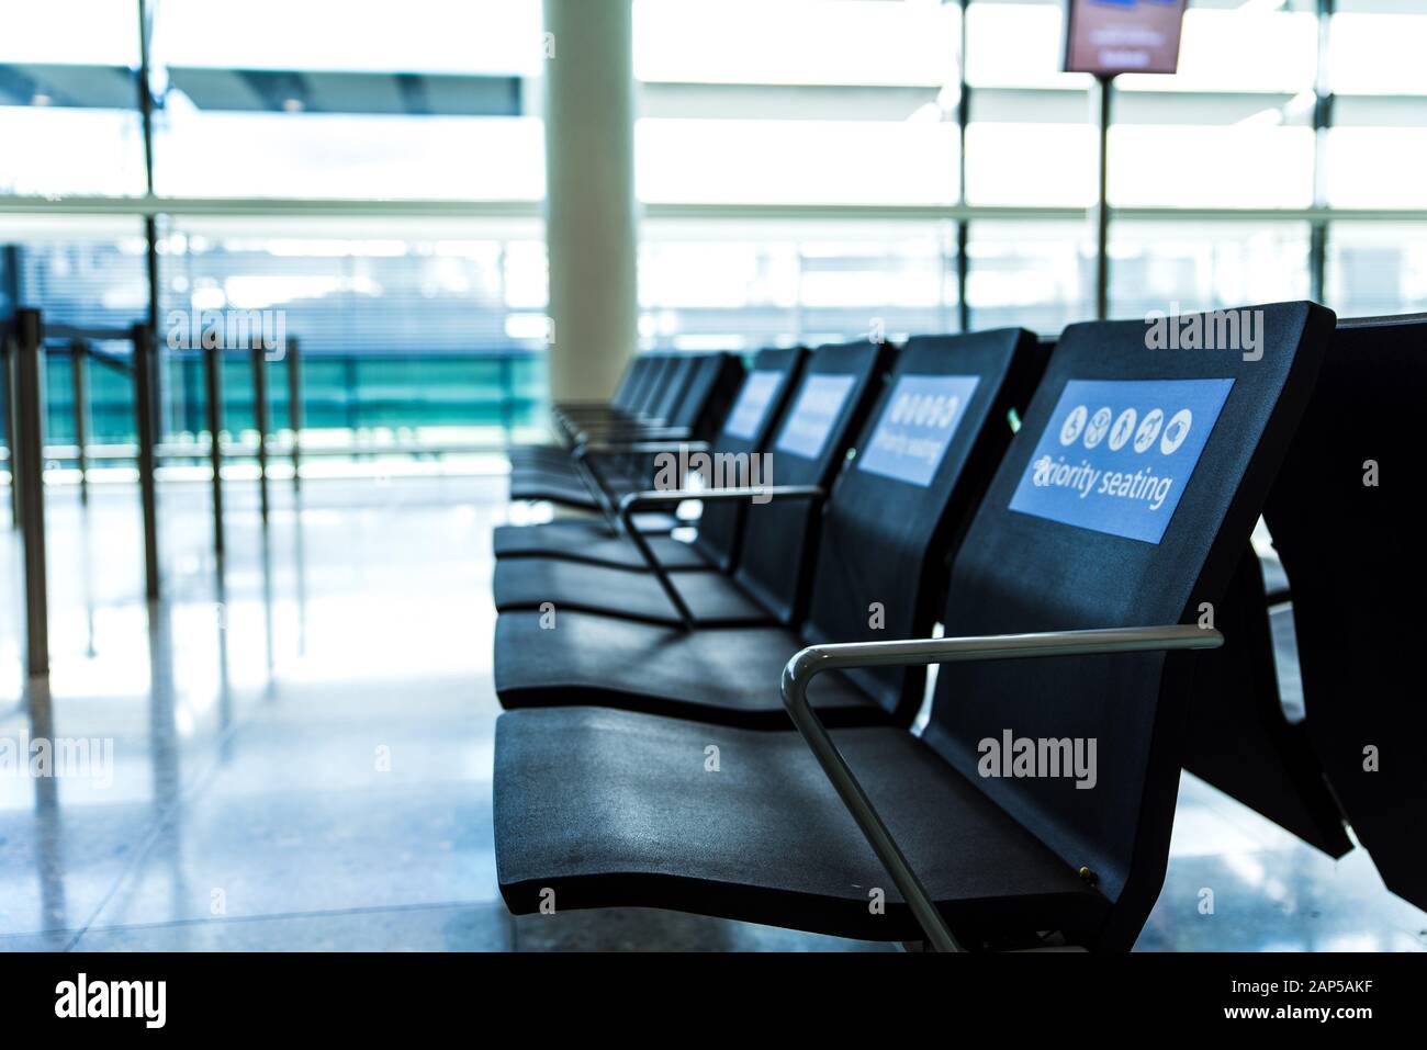
[[[768,462],[771,469],[758,484],[826,488],[880,391],[890,357],[889,347],[872,342],[818,350],[803,368],[772,451],[761,457],[759,462]],[[795,619],[802,608],[819,512],[818,502],[802,496],[771,496],[746,505],[733,578],[681,574],[672,581],[694,621],[708,626],[755,626]],[[758,536],[758,545],[749,545],[749,536]],[[762,549],[769,545],[775,546],[772,556]],[[732,548],[723,552],[731,555]],[[648,572],[552,558],[507,558],[497,562],[492,591],[501,612],[554,603],[557,609],[651,623],[684,622],[665,582]]]

